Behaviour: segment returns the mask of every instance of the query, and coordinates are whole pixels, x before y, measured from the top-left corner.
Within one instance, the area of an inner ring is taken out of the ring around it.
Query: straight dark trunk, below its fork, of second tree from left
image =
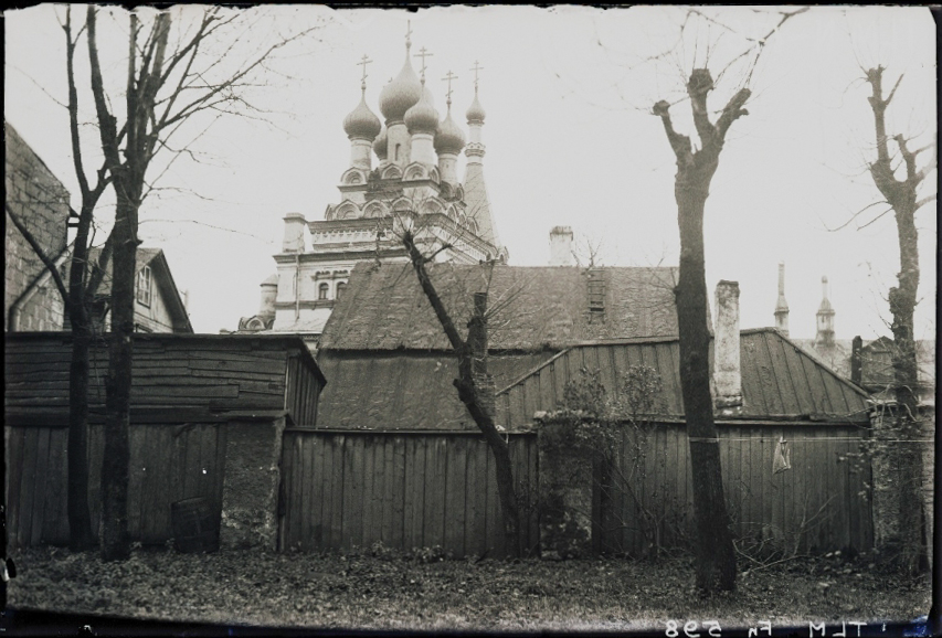
[[[130,386],[134,336],[134,283],[137,237],[131,227],[134,204],[118,193],[112,277],[112,333],[105,380],[105,454],[102,462],[102,560],[125,560],[128,539],[128,466],[130,447]]]

